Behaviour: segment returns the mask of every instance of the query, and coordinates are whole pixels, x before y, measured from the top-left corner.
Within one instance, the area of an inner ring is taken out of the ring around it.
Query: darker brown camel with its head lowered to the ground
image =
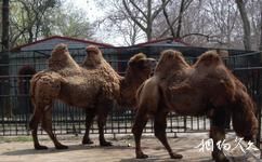
[[[163,51],[154,76],[137,90],[136,99],[137,111],[132,132],[139,159],[147,158],[141,149],[141,135],[148,117],[154,118],[155,136],[170,157],[183,157],[172,151],[166,137],[166,118],[170,111],[183,116],[209,114],[210,137],[214,144],[225,138],[224,117],[227,111],[238,136],[251,140],[258,132],[252,99],[245,85],[227,70],[214,51],[204,53],[193,66],[186,64],[180,52]],[[212,157],[218,162],[227,161],[217,145]]]

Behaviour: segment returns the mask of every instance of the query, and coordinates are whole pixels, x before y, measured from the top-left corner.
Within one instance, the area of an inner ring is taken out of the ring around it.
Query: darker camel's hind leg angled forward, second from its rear
[[[158,111],[154,120],[155,136],[161,141],[165,148],[168,150],[171,159],[182,159],[182,154],[174,153],[168,144],[166,129],[167,129],[167,112]]]

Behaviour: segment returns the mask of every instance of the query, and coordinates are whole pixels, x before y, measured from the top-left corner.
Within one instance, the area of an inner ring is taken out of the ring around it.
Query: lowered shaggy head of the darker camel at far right
[[[245,140],[253,140],[259,131],[256,104],[245,91],[238,91],[232,109],[233,127]]]

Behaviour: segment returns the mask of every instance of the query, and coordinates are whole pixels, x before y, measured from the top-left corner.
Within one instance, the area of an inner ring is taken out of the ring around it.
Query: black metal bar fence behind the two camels
[[[128,59],[143,52],[147,56],[158,58],[162,50],[174,49],[181,51],[188,63],[194,63],[198,55],[208,49],[188,46],[131,46],[131,48],[102,48],[104,57],[120,75],[127,67]],[[75,60],[79,64],[83,60],[84,49],[69,49]],[[51,51],[23,51],[9,54],[9,64],[1,64],[0,68],[8,68],[9,75],[0,77],[0,136],[29,135],[29,117],[32,106],[29,96],[29,80],[39,70],[47,68],[47,59]],[[262,67],[261,53],[228,50],[225,64],[245,83],[249,94],[257,104],[257,117],[261,123],[261,91]],[[4,91],[3,91],[4,90]],[[215,92],[214,92],[215,93]],[[55,102],[53,113],[53,129],[55,134],[83,134],[86,111],[69,107],[61,102]],[[133,124],[134,111],[129,107],[115,105],[107,119],[106,134],[130,134]],[[228,119],[230,123],[230,119]],[[206,132],[210,127],[207,117],[184,117],[170,113],[168,118],[167,133],[180,132]],[[231,125],[228,124],[228,130]],[[153,133],[153,123],[148,122],[144,132]],[[261,132],[261,126],[260,126]],[[260,143],[259,132],[257,144]],[[96,123],[92,125],[91,133],[99,133]],[[44,132],[41,131],[41,134]]]

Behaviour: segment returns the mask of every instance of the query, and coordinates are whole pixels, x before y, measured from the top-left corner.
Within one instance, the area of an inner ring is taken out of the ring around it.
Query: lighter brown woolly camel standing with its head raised
[[[154,59],[146,58],[144,54],[136,54],[129,60],[127,75],[122,78],[103,58],[96,46],[87,48],[87,57],[82,66],[79,66],[69,55],[67,46],[58,44],[52,51],[49,69],[38,72],[31,79],[30,95],[35,111],[29,126],[32,130],[35,149],[47,149],[39,144],[37,137],[40,122],[56,149],[68,148],[62,145],[52,132],[54,99],[86,109],[86,134],[82,144],[92,144],[89,131],[94,117],[97,116],[100,145],[110,146],[112,144],[104,138],[104,125],[114,99],[126,100],[126,95],[121,93],[125,94],[127,87],[136,91],[140,84],[149,78],[154,63]],[[132,95],[128,96],[135,98],[135,92],[132,92]]]

